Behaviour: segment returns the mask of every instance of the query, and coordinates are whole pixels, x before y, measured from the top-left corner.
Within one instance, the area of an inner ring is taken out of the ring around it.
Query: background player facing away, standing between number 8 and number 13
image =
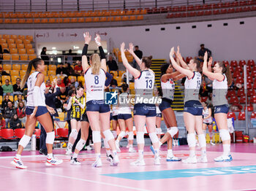
[[[126,134],[126,129],[128,128],[128,145],[129,145],[129,152],[136,152],[133,149],[133,121],[132,121],[132,111],[130,108],[129,103],[127,100],[129,98],[129,86],[127,84],[121,85],[123,93],[119,94],[119,103],[118,103],[118,125],[120,128],[120,133],[116,139],[116,149],[118,152],[121,152],[119,149],[119,141],[123,139]],[[120,103],[121,101],[121,103]]]

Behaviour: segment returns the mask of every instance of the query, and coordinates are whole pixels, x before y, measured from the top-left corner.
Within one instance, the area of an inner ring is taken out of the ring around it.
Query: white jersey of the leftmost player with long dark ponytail
[[[27,97],[27,104],[26,106],[34,106],[34,97],[33,97],[33,91],[34,91],[34,85],[37,82],[37,75],[39,74],[39,71],[34,71],[28,78],[27,85],[28,85],[28,97]],[[42,82],[42,85],[40,86],[40,96],[38,98],[38,106],[46,106],[45,105],[45,82]]]

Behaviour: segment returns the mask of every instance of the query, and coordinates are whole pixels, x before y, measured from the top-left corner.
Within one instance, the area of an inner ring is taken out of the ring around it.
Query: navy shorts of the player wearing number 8
[[[104,100],[91,100],[86,102],[86,112],[110,112],[110,107]]]

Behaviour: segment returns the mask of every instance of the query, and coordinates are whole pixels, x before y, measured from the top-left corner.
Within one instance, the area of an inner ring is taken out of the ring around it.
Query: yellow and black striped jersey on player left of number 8
[[[75,100],[78,100],[78,102],[79,102],[80,104],[82,104],[82,105],[85,106],[85,104],[86,104],[86,99],[85,99],[84,96],[82,96],[82,97],[80,97],[80,98],[76,98],[75,96],[72,97],[72,101],[71,101],[71,102],[72,102],[72,111],[71,111],[70,117],[71,117],[71,118],[80,118],[80,117],[82,117],[83,113],[85,112],[86,106],[84,107],[84,109],[81,108],[81,107],[79,106],[79,104],[76,103]]]

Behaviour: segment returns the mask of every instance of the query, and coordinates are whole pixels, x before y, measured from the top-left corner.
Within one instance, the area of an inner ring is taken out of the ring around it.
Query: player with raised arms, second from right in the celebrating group
[[[201,84],[200,74],[200,62],[196,59],[189,61],[189,64],[181,61],[179,66],[173,58],[174,47],[170,50],[170,61],[173,64],[173,68],[187,76],[185,81],[185,98],[184,98],[184,122],[189,132],[187,134],[187,142],[189,144],[189,157],[183,160],[183,163],[197,163],[197,157],[195,155],[195,130],[198,134],[198,141],[201,147],[201,157],[199,162],[207,163],[206,156],[206,137],[203,134],[203,106],[199,101],[199,90]]]

